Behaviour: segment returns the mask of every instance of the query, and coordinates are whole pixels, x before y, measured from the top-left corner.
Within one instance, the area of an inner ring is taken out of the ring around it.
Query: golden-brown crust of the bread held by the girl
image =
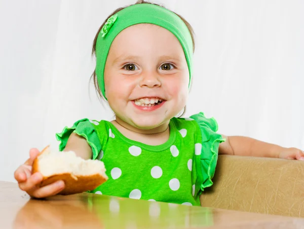
[[[49,150],[49,146],[44,148],[39,155]],[[32,174],[40,172],[39,168],[39,159],[38,156],[35,158],[32,165]],[[62,173],[62,174],[54,174],[51,176],[44,176],[43,181],[40,183],[40,187],[43,187],[48,184],[52,184],[56,181],[62,180],[64,181],[65,188],[59,192],[62,195],[69,195],[75,193],[81,193],[84,191],[90,191],[97,188],[99,185],[107,181],[106,176],[102,176],[101,174],[93,174],[93,175],[72,175],[70,173]]]

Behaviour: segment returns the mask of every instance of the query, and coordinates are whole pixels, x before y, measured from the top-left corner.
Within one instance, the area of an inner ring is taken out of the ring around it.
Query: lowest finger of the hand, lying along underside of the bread
[[[30,191],[30,195],[35,198],[52,197],[52,195],[56,195],[60,191],[62,191],[64,187],[64,182],[62,180],[59,180],[41,188],[33,189],[32,191]]]

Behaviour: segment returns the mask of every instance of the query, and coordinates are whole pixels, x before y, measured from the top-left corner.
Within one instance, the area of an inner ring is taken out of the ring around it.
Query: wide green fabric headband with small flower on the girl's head
[[[99,88],[105,97],[104,67],[113,40],[125,28],[141,23],[159,25],[168,29],[180,42],[187,60],[189,86],[191,82],[193,43],[186,24],[172,11],[153,4],[135,4],[111,16],[100,30],[96,42],[96,75]],[[106,99],[106,97],[105,97]]]

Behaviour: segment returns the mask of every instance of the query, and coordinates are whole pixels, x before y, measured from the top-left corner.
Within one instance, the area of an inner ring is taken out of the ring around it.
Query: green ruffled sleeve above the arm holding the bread
[[[75,122],[72,127],[64,127],[61,133],[56,134],[56,139],[60,142],[59,151],[64,150],[69,136],[74,132],[87,140],[92,148],[93,158],[95,158],[102,147],[95,128],[98,124],[95,120],[85,118]]]

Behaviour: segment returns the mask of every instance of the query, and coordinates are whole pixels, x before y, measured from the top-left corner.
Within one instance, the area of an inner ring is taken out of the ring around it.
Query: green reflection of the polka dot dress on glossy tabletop
[[[202,207],[90,194],[83,196],[104,228],[176,228],[212,226],[212,210]]]

